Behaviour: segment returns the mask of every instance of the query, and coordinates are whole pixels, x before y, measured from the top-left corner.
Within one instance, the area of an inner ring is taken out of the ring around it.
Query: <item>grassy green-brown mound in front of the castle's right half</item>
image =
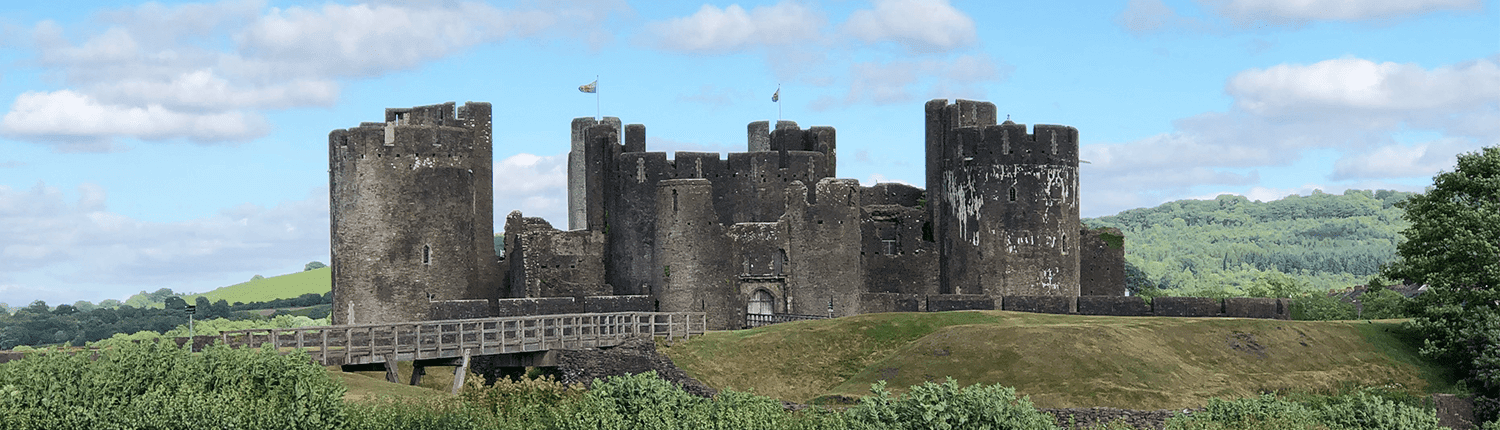
[[[716,388],[790,402],[954,378],[1041,408],[1197,408],[1209,397],[1341,387],[1452,388],[1390,321],[879,313],[710,333],[662,351]]]

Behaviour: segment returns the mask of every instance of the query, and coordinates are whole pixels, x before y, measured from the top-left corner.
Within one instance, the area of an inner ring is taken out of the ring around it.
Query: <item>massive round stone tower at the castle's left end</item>
[[[483,298],[494,252],[489,103],[387,109],[328,133],[333,322],[430,319],[432,300]],[[480,210],[483,207],[483,210]],[[483,247],[486,250],[490,246]]]

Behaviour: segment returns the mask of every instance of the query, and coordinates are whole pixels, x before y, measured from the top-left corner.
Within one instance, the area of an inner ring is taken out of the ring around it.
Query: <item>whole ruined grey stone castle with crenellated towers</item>
[[[642,124],[574,118],[567,231],[513,211],[496,256],[490,105],[387,109],[328,133],[333,322],[658,310],[723,330],[1125,294],[1119,232],[1078,223],[1077,129],[972,100],[926,117],[926,189],[836,178],[832,127],[756,121],[744,153],[669,159]]]

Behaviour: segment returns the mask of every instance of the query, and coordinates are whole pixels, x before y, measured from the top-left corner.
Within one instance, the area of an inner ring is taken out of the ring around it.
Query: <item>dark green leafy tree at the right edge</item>
[[[1426,193],[1396,204],[1412,222],[1383,276],[1428,285],[1410,306],[1422,355],[1467,375],[1478,418],[1500,417],[1500,147],[1458,156]]]

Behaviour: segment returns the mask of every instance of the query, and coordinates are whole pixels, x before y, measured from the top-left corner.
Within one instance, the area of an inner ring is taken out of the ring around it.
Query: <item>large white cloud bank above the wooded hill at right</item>
[[[1494,58],[1442,67],[1335,58],[1251,69],[1228,79],[1227,112],[1174,121],[1168,133],[1088,144],[1080,157],[1084,208],[1106,214],[1260,183],[1256,168],[1286,166],[1310,150],[1341,157],[1318,187],[1380,187],[1450,168],[1454,154],[1500,144],[1500,67]],[[1401,145],[1401,132],[1436,141]],[[1246,171],[1248,169],[1248,171]],[[1311,187],[1311,186],[1310,186]],[[1257,196],[1280,189],[1254,190]],[[1282,195],[1284,196],[1284,195]]]

